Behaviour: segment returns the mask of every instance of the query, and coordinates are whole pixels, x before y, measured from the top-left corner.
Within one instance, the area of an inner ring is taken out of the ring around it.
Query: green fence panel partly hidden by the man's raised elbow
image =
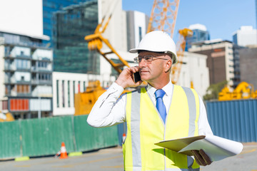
[[[119,145],[117,126],[92,128],[87,122],[88,115],[74,117],[74,132],[77,151],[95,150]]]

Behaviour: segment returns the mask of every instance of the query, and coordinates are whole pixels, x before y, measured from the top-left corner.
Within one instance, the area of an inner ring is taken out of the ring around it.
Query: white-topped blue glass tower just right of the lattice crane
[[[188,48],[191,48],[192,43],[210,40],[210,34],[208,33],[206,26],[202,24],[192,24],[188,28],[193,31],[193,35],[186,37],[185,51],[188,51]]]

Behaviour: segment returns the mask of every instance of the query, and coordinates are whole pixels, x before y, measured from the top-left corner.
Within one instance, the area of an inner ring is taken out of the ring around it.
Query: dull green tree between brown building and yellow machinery
[[[218,99],[218,93],[221,92],[222,88],[226,86],[228,81],[222,81],[220,83],[211,84],[206,90],[206,95],[203,96],[203,100],[214,100]]]

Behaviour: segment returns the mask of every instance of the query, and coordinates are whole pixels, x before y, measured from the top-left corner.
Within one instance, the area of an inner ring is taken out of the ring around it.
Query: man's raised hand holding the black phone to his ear
[[[139,71],[138,66],[125,68],[115,82],[123,88],[139,86],[141,85],[141,83],[143,83],[143,81],[138,81],[137,83],[133,81],[133,73],[136,73],[138,71]]]

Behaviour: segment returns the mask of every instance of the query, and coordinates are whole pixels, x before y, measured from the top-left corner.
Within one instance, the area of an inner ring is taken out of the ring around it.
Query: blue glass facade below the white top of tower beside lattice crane
[[[199,29],[195,29],[192,31],[193,31],[193,36],[186,38],[186,50],[185,51],[188,51],[188,48],[191,48],[191,43],[210,40],[210,34],[208,33],[208,31],[202,31]]]

